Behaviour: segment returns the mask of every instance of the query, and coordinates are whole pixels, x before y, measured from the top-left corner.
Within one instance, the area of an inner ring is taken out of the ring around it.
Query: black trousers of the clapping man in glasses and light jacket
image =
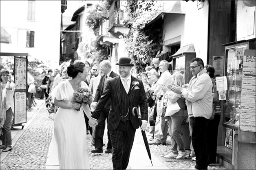
[[[194,127],[192,132],[192,145],[196,154],[196,169],[207,170],[207,127],[209,119],[204,117],[194,117]]]

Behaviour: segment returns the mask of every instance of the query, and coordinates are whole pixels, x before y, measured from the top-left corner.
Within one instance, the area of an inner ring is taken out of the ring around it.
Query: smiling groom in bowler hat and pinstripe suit
[[[129,57],[121,57],[116,65],[119,65],[120,76],[107,81],[102,96],[89,120],[89,125],[97,125],[100,112],[110,98],[108,130],[113,145],[113,169],[126,169],[135,131],[139,128],[138,118],[132,114],[132,108],[140,107],[142,120],[140,128],[144,131],[148,122],[148,105],[142,81],[130,74],[134,66],[132,60]]]

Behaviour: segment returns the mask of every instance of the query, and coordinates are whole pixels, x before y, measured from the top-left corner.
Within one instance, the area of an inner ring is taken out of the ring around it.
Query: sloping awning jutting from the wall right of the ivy
[[[162,25],[163,19],[165,15],[185,15],[185,13],[181,10],[181,2],[177,0],[175,4],[170,6],[170,8],[166,9],[162,13],[160,13],[157,17],[155,17],[152,21],[145,25],[144,30],[147,30],[153,24]]]

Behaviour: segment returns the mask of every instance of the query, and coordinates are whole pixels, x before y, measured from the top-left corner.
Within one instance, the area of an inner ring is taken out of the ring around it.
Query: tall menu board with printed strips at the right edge
[[[255,49],[245,49],[239,127],[242,131],[255,132]]]

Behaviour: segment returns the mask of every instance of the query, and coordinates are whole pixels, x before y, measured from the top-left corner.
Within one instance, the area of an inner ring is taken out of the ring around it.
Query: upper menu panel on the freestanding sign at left
[[[15,90],[26,89],[26,58],[14,57]]]

